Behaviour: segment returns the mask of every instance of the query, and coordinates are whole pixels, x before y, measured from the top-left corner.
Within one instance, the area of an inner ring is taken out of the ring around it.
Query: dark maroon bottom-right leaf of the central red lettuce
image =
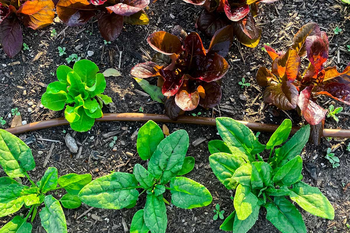
[[[212,108],[218,105],[221,101],[221,87],[218,83],[202,82],[201,86],[204,88],[205,97],[201,96],[199,105],[203,108]],[[201,95],[201,93],[200,93]]]

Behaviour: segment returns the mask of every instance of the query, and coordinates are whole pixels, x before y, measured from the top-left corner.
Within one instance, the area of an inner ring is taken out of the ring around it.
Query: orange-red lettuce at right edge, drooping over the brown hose
[[[307,23],[295,34],[286,52],[276,52],[265,45],[272,58],[272,69],[260,67],[257,82],[267,86],[264,101],[282,110],[297,109],[311,125],[314,144],[322,135],[327,110],[316,103],[317,95],[326,95],[350,104],[350,63],[342,73],[336,66],[324,68],[328,59],[328,37],[316,23]],[[307,56],[309,65],[300,73],[301,57]]]

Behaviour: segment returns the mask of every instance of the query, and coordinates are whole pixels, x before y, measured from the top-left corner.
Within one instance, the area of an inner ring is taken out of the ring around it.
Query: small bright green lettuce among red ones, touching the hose
[[[89,60],[77,61],[73,69],[59,66],[58,81],[47,86],[41,97],[42,105],[54,111],[66,106],[64,116],[71,128],[79,132],[90,130],[95,118],[102,117],[103,104],[112,102],[109,96],[102,94],[106,80],[104,74],[97,72],[97,65]]]

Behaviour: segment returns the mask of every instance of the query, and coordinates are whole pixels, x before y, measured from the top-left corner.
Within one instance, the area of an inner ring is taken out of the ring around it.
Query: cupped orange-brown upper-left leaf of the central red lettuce
[[[178,54],[182,51],[180,39],[165,31],[157,31],[152,33],[147,38],[148,44],[155,51],[171,55]]]

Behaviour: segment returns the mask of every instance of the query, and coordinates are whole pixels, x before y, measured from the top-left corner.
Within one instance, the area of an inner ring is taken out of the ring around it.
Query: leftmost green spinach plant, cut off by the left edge
[[[48,233],[67,233],[67,224],[62,207],[75,209],[82,202],[77,194],[91,182],[91,175],[70,173],[58,178],[57,169],[49,167],[36,183],[28,175],[35,168],[30,148],[18,137],[0,129],[0,164],[8,176],[0,177],[0,217],[19,211],[23,205],[26,217],[15,216],[0,229],[1,233],[31,233],[35,216],[39,211],[41,225]],[[14,178],[27,177],[30,185],[18,183]],[[57,187],[59,184],[59,187]],[[65,189],[67,194],[57,200],[49,191]],[[60,204],[61,203],[61,204]]]

